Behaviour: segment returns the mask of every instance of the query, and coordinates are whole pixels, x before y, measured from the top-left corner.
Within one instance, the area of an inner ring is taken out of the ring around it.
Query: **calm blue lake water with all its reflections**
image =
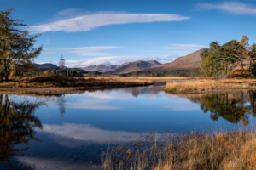
[[[158,88],[0,95],[0,169],[89,169],[100,164],[108,145],[143,139],[148,132],[250,127],[256,116],[253,91],[177,96]]]

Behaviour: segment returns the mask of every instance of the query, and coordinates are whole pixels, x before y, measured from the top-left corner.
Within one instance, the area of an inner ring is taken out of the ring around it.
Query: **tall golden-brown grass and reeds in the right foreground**
[[[132,148],[136,148],[132,150]],[[104,169],[255,169],[256,137],[247,132],[191,133],[166,143],[119,146],[102,156]]]

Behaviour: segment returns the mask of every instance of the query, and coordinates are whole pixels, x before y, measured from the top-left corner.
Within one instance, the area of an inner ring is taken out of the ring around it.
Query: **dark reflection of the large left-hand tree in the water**
[[[10,164],[13,156],[21,156],[22,151],[28,149],[30,141],[38,141],[34,129],[42,129],[42,124],[38,117],[34,116],[34,111],[40,105],[44,103],[15,103],[8,99],[7,94],[3,101],[3,94],[0,94],[0,162]],[[17,144],[26,144],[26,147],[20,149]]]

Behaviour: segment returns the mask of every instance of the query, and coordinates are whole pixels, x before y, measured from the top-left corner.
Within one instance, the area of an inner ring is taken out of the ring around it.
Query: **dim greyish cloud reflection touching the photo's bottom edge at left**
[[[24,163],[27,165],[31,165],[33,169],[65,169],[65,170],[73,170],[73,169],[83,169],[90,170],[94,169],[91,165],[84,165],[84,163],[73,163],[71,161],[63,161],[59,159],[44,159],[37,157],[16,157],[17,161],[20,163]],[[45,168],[47,167],[47,168]]]

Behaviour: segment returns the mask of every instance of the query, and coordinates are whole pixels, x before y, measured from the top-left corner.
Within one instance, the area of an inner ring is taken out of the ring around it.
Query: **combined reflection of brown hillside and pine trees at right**
[[[256,92],[241,91],[222,94],[189,94],[183,97],[201,104],[201,110],[210,111],[212,120],[224,118],[232,123],[249,123],[249,116],[256,116]]]

